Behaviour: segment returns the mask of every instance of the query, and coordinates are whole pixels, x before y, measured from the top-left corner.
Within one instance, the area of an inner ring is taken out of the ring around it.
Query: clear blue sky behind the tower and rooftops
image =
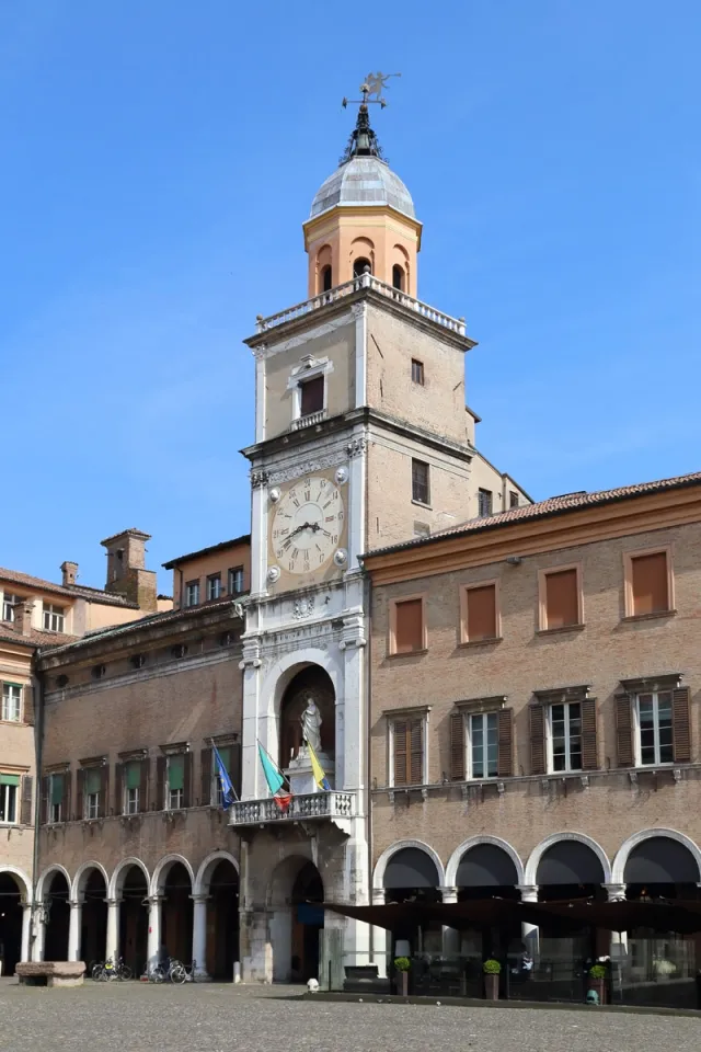
[[[0,0],[0,564],[249,528],[241,340],[377,69],[480,448],[537,499],[701,467],[700,39],[698,0]]]

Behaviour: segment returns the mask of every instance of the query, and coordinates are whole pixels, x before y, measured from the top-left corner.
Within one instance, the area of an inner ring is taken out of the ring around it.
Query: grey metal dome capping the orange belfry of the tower
[[[319,187],[311,204],[310,219],[342,206],[389,205],[412,219],[414,202],[404,183],[379,157],[354,156]]]

